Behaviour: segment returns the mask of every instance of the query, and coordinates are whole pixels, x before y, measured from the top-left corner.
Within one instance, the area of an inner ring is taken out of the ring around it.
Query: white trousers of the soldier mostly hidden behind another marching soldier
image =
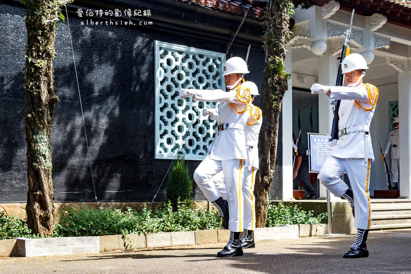
[[[244,168],[244,179],[242,180],[242,197],[244,199],[244,229],[255,229],[255,198],[254,198],[254,184],[255,174],[257,170],[252,167]],[[222,172],[213,177],[213,181],[221,197],[227,199],[226,186],[224,182],[224,175]]]

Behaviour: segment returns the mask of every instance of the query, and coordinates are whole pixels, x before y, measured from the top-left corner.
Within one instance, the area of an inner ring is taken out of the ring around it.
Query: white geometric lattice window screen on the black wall
[[[206,156],[213,141],[215,121],[201,111],[204,107],[215,108],[218,103],[179,99],[178,91],[180,88],[224,90],[220,66],[224,57],[224,53],[156,41],[157,159],[173,159],[184,135],[180,151],[185,153],[185,159],[202,160]],[[219,75],[214,77],[215,74]],[[186,133],[192,119],[195,119],[193,125]]]

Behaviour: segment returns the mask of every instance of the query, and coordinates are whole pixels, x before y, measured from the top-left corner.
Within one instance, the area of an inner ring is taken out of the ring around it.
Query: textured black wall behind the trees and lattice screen
[[[24,17],[24,8],[0,4],[0,203],[25,202],[27,196]],[[66,21],[58,25],[54,60],[60,98],[52,129],[55,201],[94,200],[90,162],[99,200],[151,200],[171,163],[154,159],[154,43],[219,52],[225,52],[226,45],[121,26],[82,26],[76,17],[69,20],[89,153]],[[233,48],[231,53],[245,56],[246,49]],[[262,51],[251,51],[247,80],[258,86],[263,60]],[[191,174],[198,164],[190,161]],[[276,172],[273,184],[282,178],[281,168]],[[157,200],[165,198],[164,191],[165,183]],[[198,188],[195,197],[204,199]]]

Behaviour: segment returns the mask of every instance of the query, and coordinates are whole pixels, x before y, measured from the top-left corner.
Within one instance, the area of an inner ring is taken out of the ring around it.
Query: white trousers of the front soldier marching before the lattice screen
[[[242,168],[242,162],[242,159],[213,160],[210,158],[210,155],[207,155],[193,176],[204,196],[206,196],[210,202],[213,202],[218,199],[221,194],[212,178],[222,170],[225,177],[230,212],[228,229],[233,232],[241,232],[243,230],[243,198],[241,185],[244,169]]]

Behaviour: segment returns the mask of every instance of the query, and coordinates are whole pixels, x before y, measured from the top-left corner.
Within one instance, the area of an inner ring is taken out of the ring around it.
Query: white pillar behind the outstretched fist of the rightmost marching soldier
[[[337,56],[332,56],[326,50],[323,56],[318,58],[318,82],[322,85],[335,85],[337,79],[339,60]],[[318,98],[318,112],[319,112],[319,133],[330,134],[331,124],[334,115],[332,114],[331,100],[325,94],[320,94]],[[320,184],[320,197],[327,197],[326,188]],[[331,198],[334,196],[331,194]]]

